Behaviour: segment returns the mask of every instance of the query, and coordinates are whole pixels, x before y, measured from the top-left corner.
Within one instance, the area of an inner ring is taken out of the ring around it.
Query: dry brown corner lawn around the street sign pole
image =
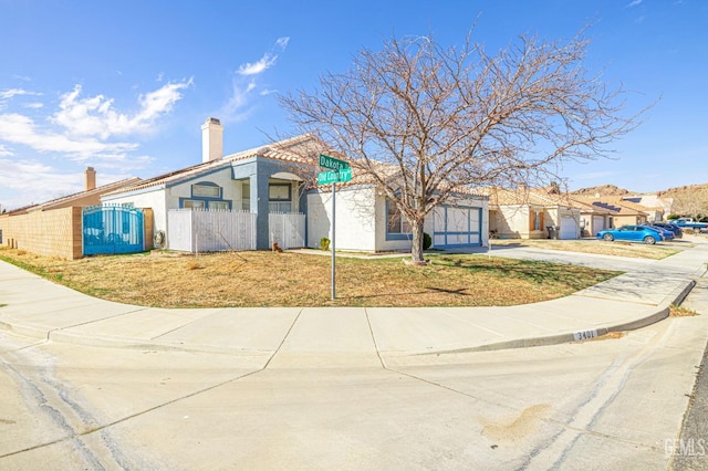
[[[566,296],[617,272],[487,255],[435,255],[428,266],[402,259],[337,259],[304,253],[171,252],[75,261],[0,250],[0,259],[86,294],[159,307],[506,306]]]

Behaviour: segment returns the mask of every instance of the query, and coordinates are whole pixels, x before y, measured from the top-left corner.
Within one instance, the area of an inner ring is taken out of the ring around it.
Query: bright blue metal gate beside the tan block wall
[[[143,211],[126,206],[91,206],[82,213],[84,255],[145,250]]]

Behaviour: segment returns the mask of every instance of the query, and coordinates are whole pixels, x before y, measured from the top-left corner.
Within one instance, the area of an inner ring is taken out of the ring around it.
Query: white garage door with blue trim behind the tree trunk
[[[482,244],[480,208],[441,206],[435,208],[433,214],[433,247],[446,249]]]

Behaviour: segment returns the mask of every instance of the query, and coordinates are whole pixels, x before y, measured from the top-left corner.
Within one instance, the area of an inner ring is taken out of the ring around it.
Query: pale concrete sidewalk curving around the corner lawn
[[[666,317],[707,262],[708,243],[697,243],[665,260],[637,261],[632,272],[573,295],[510,307],[185,310],[97,300],[0,262],[0,328],[83,345],[250,355],[285,367],[381,366],[400,355],[549,345],[638,328]]]

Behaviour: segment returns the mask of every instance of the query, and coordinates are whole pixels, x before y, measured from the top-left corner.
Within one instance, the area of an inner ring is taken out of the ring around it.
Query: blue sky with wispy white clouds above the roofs
[[[708,182],[708,1],[0,0],[0,205],[15,208],[201,159],[199,126],[225,153],[288,135],[275,96],[314,91],[362,48],[434,32],[491,51],[518,34],[568,39],[591,24],[586,69],[660,101],[616,160],[568,165],[570,188],[634,191]]]

